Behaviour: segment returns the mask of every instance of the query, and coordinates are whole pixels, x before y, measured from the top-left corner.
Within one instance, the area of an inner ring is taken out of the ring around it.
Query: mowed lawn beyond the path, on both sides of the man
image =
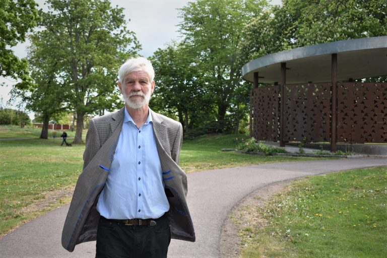
[[[83,144],[59,146],[61,139],[38,139],[40,130],[0,127],[0,235],[39,215],[70,202],[74,185],[82,171]],[[7,133],[8,132],[8,133]],[[60,131],[57,135],[60,135]],[[34,137],[32,137],[32,136]],[[86,133],[84,134],[84,137]],[[265,157],[222,152],[235,148],[240,135],[203,136],[183,142],[180,165],[187,172],[214,168],[305,160],[295,157]],[[72,140],[69,139],[69,142]],[[240,140],[239,140],[240,141]]]

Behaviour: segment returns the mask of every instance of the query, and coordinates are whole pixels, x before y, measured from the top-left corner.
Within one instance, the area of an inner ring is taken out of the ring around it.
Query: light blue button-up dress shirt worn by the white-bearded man
[[[168,210],[151,112],[145,124],[137,128],[125,108],[97,211],[107,219],[157,219]]]

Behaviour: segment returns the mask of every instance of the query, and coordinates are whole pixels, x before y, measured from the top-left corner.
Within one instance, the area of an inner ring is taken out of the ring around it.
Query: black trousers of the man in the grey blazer
[[[171,241],[166,215],[154,226],[125,226],[101,218],[97,230],[96,258],[166,258]]]

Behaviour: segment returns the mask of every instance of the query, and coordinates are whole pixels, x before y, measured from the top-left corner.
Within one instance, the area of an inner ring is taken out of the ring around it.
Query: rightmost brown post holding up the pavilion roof
[[[337,138],[337,54],[332,54],[332,122],[331,122],[331,152],[336,152]]]

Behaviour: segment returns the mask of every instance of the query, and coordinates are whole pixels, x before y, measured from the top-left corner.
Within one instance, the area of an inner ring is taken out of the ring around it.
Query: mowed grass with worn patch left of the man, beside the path
[[[58,192],[75,184],[84,145],[59,144],[59,139],[0,141],[0,235],[69,201]]]

